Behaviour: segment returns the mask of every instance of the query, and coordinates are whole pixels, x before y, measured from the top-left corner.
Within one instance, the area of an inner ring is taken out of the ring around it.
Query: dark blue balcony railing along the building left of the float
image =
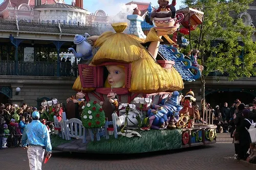
[[[53,76],[57,77],[57,62],[18,61],[18,76]],[[15,61],[0,61],[0,75],[15,74]],[[75,63],[60,63],[60,77],[77,77],[78,67]]]

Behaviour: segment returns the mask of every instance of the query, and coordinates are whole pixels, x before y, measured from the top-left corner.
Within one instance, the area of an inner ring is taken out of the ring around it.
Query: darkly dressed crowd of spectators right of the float
[[[230,133],[233,138],[235,157],[256,163],[255,142],[252,143],[247,129],[256,122],[256,98],[251,104],[245,105],[240,100],[234,101],[229,108],[227,103],[220,109],[217,105],[214,109],[214,124],[217,133]]]

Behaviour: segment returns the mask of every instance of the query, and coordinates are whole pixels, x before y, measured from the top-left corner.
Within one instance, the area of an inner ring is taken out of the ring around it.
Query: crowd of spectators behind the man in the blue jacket
[[[45,101],[44,101],[45,102]],[[40,113],[40,122],[47,126],[49,133],[54,132],[54,116],[61,119],[62,107],[60,103],[52,106],[30,107],[26,103],[0,104],[0,148],[7,149],[22,147],[21,139],[24,128],[32,122],[32,112]]]

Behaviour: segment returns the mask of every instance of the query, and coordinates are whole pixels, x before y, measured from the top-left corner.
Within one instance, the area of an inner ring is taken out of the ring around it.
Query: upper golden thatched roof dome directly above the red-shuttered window
[[[141,41],[122,33],[127,23],[112,23],[112,27],[116,33],[105,32],[95,42],[95,47],[100,48],[93,57],[92,64],[97,65],[106,61],[131,63],[140,59],[143,48]]]

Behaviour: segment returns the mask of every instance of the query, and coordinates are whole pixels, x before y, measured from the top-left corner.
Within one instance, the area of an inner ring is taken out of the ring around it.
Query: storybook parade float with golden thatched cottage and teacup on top
[[[194,92],[179,92],[201,72],[176,47],[161,43],[172,41],[168,35],[183,19],[175,8],[164,9],[165,15],[156,11],[147,35],[136,9],[127,16],[130,34],[121,22],[99,37],[75,36],[76,51],[69,50],[82,59],[73,85],[77,94],[67,99],[62,120],[55,118],[60,133],[52,137],[53,150],[144,153],[216,142],[216,126],[196,123]]]

